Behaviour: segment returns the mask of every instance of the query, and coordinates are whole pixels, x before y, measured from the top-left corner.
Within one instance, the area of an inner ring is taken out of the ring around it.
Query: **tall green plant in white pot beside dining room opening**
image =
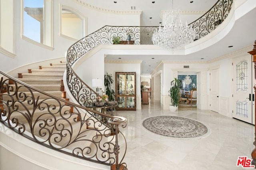
[[[174,80],[170,83],[171,87],[169,92],[169,96],[171,97],[171,103],[169,105],[170,111],[176,111],[178,108],[179,100],[180,100],[180,87],[181,83],[177,78],[174,78]]]

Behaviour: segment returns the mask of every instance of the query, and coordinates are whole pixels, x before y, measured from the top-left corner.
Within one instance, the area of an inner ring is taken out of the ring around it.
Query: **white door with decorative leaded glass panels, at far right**
[[[253,120],[254,92],[252,91],[252,56],[233,59],[232,116],[241,121],[255,124]]]

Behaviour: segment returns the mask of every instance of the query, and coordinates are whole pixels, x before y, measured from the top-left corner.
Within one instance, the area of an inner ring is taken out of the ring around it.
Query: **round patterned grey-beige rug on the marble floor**
[[[144,119],[144,128],[155,134],[180,140],[200,139],[210,135],[202,123],[186,117],[156,116]]]

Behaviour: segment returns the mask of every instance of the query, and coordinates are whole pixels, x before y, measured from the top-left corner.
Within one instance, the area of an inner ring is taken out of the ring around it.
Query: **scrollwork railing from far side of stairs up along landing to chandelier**
[[[76,101],[82,106],[95,105],[95,100],[101,98],[91,89],[72,69],[72,65],[85,53],[99,44],[112,44],[112,38],[119,36],[122,41],[127,39],[130,34],[134,44],[153,44],[152,34],[157,27],[137,27],[137,26],[104,26],[96,32],[82,38],[74,43],[66,53],[67,59],[67,84],[70,92]],[[112,105],[111,102],[101,99],[106,107]]]

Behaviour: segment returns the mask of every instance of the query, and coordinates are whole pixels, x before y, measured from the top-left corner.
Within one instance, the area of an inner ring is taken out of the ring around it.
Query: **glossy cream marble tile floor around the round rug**
[[[127,141],[124,162],[129,170],[240,170],[244,168],[236,166],[238,156],[251,158],[254,149],[253,125],[209,110],[179,107],[171,113],[150,102],[142,110],[117,111],[117,115],[128,120],[120,130]],[[195,119],[210,128],[211,134],[198,140],[175,140],[142,126],[144,119],[158,115]]]

